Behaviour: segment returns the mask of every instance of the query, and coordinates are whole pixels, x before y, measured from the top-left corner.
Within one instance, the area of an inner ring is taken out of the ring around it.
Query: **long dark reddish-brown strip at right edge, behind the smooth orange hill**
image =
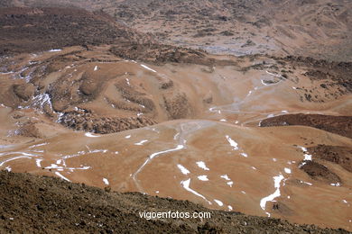
[[[261,121],[261,127],[303,125],[327,130],[341,136],[352,138],[351,116],[330,116],[321,114],[284,114]]]

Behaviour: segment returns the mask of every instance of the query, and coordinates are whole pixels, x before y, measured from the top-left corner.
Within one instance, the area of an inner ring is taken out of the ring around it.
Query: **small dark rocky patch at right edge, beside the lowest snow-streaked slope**
[[[318,145],[308,148],[308,151],[314,158],[338,164],[347,171],[352,172],[352,148]]]

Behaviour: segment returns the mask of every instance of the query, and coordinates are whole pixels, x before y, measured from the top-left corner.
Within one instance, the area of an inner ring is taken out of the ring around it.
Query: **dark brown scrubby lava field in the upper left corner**
[[[104,12],[78,8],[0,8],[0,35],[0,56],[75,45],[150,41]]]

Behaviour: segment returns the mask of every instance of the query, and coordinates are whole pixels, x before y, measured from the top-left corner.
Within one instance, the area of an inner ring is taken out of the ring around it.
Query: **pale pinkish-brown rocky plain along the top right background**
[[[342,0],[300,1],[57,1],[17,0],[5,6],[103,9],[164,43],[219,54],[302,55],[351,61],[352,5]]]

